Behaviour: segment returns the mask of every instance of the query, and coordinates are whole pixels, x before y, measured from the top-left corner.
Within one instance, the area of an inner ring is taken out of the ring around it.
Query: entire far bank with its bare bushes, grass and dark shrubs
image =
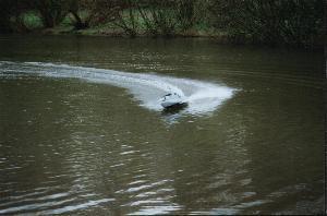
[[[0,33],[324,44],[324,0],[0,0]]]

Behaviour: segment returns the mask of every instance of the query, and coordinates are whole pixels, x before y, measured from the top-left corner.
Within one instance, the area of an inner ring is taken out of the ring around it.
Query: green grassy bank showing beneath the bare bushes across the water
[[[125,13],[129,13],[128,11]],[[29,11],[27,13],[23,13],[20,16],[20,21],[12,22],[21,22],[17,26],[24,26],[21,29],[16,28],[15,31],[21,33],[41,33],[41,34],[77,34],[77,35],[107,35],[107,36],[184,36],[184,37],[213,37],[219,36],[219,32],[214,27],[210,27],[206,23],[196,23],[192,28],[189,29],[171,29],[170,34],[164,35],[160,32],[157,34],[150,33],[142,17],[135,17],[135,35],[130,35],[126,29],[120,23],[130,23],[130,17],[124,16],[120,21],[111,21],[106,23],[93,24],[88,27],[77,29],[75,27],[75,21],[71,15],[66,15],[61,23],[53,27],[45,27],[43,24],[39,14],[36,12]]]

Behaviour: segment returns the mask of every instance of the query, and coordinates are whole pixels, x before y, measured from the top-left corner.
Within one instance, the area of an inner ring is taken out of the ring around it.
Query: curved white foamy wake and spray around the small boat
[[[146,73],[129,73],[107,69],[74,67],[44,62],[0,62],[0,76],[36,74],[50,77],[81,79],[129,89],[141,106],[160,111],[158,99],[169,92],[185,96],[184,113],[205,115],[232,97],[234,89],[219,84]]]

